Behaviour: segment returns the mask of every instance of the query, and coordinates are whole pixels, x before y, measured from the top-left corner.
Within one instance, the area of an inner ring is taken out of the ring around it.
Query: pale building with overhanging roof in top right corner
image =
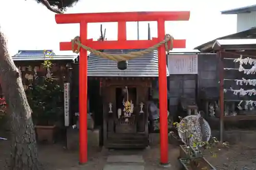
[[[237,14],[237,32],[256,27],[256,5],[222,11],[221,14]]]

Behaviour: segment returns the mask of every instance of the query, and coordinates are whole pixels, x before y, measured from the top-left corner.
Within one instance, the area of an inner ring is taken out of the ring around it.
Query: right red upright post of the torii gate
[[[164,20],[157,21],[159,40],[165,37]],[[159,83],[159,117],[160,117],[160,162],[168,163],[168,119],[167,119],[167,76],[166,53],[164,45],[158,48],[158,83]]]

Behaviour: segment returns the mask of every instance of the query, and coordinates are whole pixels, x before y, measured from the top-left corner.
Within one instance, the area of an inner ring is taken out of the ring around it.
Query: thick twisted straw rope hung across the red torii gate
[[[76,36],[74,39],[71,40],[71,42],[72,42],[72,51],[74,53],[78,54],[79,50],[80,50],[80,47],[82,47],[85,50],[95,54],[96,56],[100,56],[100,57],[110,59],[110,60],[114,60],[114,61],[125,61],[125,60],[127,61],[127,60],[130,60],[130,59],[133,59],[133,58],[141,57],[144,54],[151,53],[154,50],[157,50],[157,48],[159,46],[161,46],[162,44],[165,45],[165,51],[166,52],[172,51],[173,50],[173,40],[174,40],[173,36],[171,36],[169,34],[166,34],[164,40],[160,41],[156,45],[151,46],[151,47],[149,47],[149,48],[147,48],[146,50],[143,50],[143,51],[130,52],[130,53],[127,53],[127,54],[108,54],[108,53],[100,52],[98,50],[94,50],[93,48],[91,48],[89,46],[81,44],[79,36]],[[167,44],[168,41],[170,41],[169,47],[168,47],[168,44]],[[77,49],[76,50],[75,50],[75,44],[77,44]]]

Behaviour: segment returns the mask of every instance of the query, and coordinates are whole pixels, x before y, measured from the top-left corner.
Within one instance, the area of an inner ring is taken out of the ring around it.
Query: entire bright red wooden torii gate
[[[189,20],[189,11],[173,12],[111,12],[56,14],[56,23],[80,23],[80,41],[95,50],[148,48],[165,38],[164,21]],[[126,22],[157,21],[158,38],[153,40],[126,40]],[[87,27],[91,22],[118,22],[117,41],[92,41],[87,39]],[[174,48],[185,48],[186,40],[174,40]],[[71,42],[60,42],[60,51],[71,51]],[[167,78],[166,53],[164,45],[158,47],[159,108],[160,108],[160,151],[161,164],[168,164],[168,123],[167,123]],[[79,52],[79,161],[87,158],[87,51]]]

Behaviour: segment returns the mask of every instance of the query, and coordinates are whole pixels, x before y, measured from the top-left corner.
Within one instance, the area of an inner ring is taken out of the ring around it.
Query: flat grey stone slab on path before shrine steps
[[[110,155],[107,162],[144,163],[142,155]]]

